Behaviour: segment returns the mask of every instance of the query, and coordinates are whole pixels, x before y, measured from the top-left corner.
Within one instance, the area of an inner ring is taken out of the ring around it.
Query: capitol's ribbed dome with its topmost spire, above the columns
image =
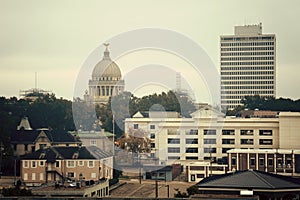
[[[109,51],[107,48],[108,44],[104,45],[106,46],[106,49],[104,51],[103,59],[95,65],[92,78],[100,79],[101,77],[112,77],[119,80],[122,77],[121,70],[119,66],[109,57]]]

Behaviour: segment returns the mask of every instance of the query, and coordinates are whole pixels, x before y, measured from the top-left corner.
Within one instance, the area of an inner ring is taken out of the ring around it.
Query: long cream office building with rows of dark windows
[[[125,120],[126,133],[141,129],[148,134],[152,157],[160,164],[211,159],[226,163],[230,149],[300,149],[298,112],[238,118],[206,106],[192,113],[191,118],[161,116],[137,113]]]

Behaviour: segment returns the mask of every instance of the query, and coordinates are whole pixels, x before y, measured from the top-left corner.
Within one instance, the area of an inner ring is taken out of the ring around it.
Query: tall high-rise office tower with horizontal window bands
[[[276,37],[262,24],[235,26],[220,37],[221,106],[234,109],[245,96],[276,95]]]

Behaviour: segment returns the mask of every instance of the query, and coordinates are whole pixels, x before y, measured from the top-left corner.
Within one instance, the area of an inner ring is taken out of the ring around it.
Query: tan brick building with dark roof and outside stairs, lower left
[[[27,186],[37,186],[111,178],[111,174],[103,174],[103,168],[101,160],[85,147],[49,147],[21,157],[21,181]]]

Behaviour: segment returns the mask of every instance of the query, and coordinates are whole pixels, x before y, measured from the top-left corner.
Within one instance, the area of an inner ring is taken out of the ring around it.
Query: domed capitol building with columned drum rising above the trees
[[[124,91],[124,80],[119,66],[111,60],[107,43],[104,44],[104,56],[93,70],[89,80],[89,89],[86,90],[84,100],[98,105],[107,104],[109,98]]]

